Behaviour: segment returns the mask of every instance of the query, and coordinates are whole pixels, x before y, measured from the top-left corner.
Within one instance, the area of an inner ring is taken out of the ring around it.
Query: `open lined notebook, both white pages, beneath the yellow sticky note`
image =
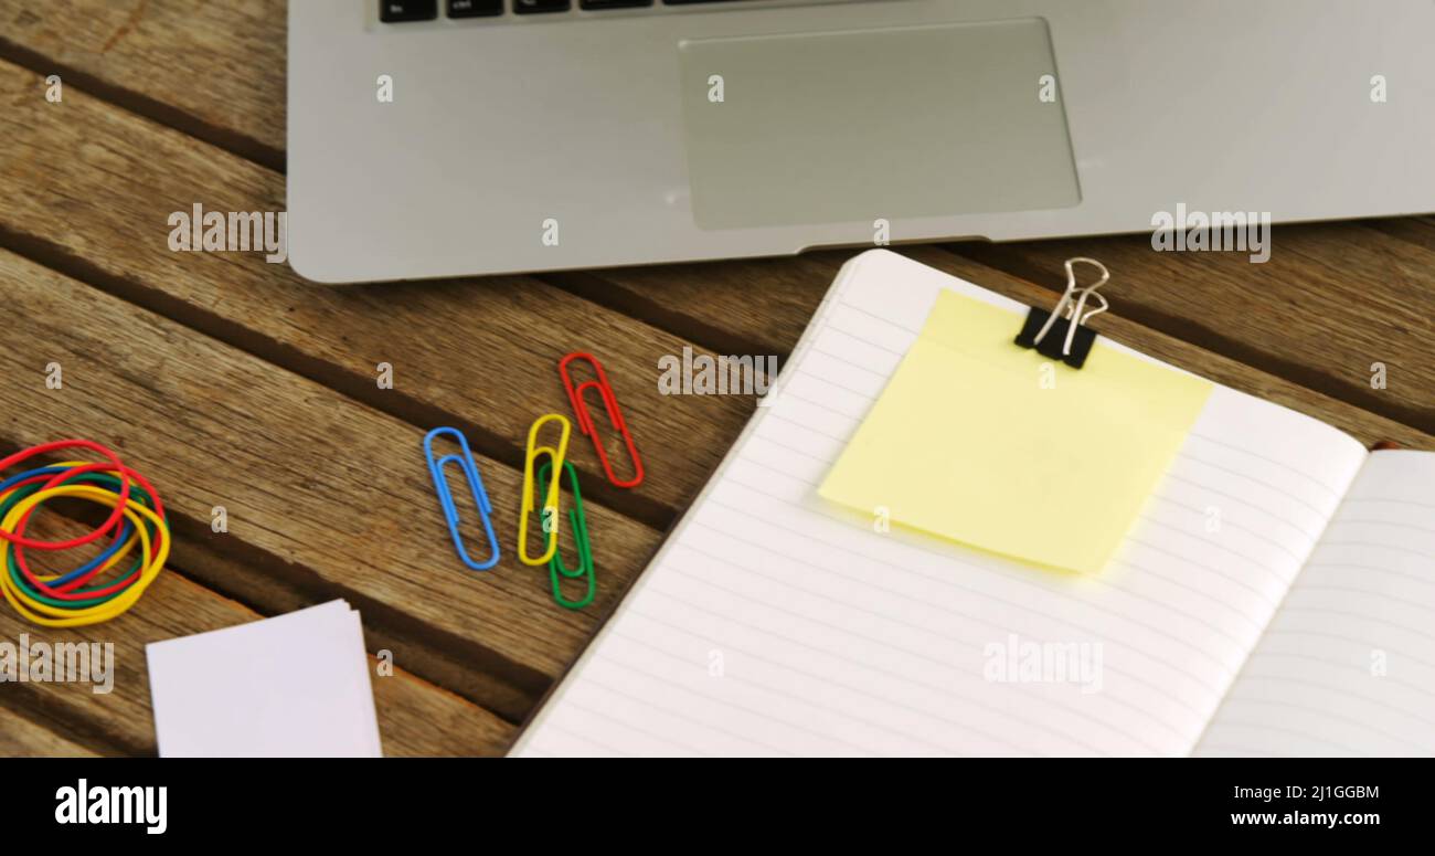
[[[894,253],[852,259],[512,754],[1435,753],[1435,454],[1368,452],[1217,386],[1085,576],[822,501],[941,289],[1009,309],[1013,333],[1026,313]],[[1095,681],[993,672],[1033,643],[1083,652]]]

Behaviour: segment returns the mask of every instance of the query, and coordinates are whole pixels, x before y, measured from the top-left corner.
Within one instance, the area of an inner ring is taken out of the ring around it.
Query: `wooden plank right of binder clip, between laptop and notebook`
[[[1264,264],[1247,253],[1158,253],[1149,236],[953,248],[1058,290],[1062,261],[1092,256],[1111,269],[1105,290],[1126,317],[1435,431],[1429,247],[1368,224],[1322,223],[1276,227]],[[1383,389],[1370,385],[1378,362]]]

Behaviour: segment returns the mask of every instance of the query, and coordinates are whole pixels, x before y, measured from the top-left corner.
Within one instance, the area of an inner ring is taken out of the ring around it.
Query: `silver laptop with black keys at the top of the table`
[[[1432,0],[288,7],[324,283],[1435,210]]]

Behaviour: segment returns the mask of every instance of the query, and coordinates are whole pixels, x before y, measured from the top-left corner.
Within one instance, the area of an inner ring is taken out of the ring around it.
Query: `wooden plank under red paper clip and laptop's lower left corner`
[[[682,353],[684,340],[534,279],[333,289],[258,253],[172,251],[172,213],[197,203],[283,210],[284,178],[79,90],[46,103],[34,82],[0,63],[0,88],[11,93],[0,115],[9,155],[0,177],[13,190],[0,240],[9,233],[10,246],[52,267],[415,424],[452,418],[479,450],[514,465],[535,417],[571,412],[558,359],[591,350],[608,369],[647,480],[634,491],[611,488],[581,437],[571,460],[600,475],[585,483],[594,498],[654,527],[696,494],[752,411],[751,399],[662,395],[659,358]],[[382,362],[393,366],[392,389],[377,386]],[[627,467],[617,435],[604,437]]]

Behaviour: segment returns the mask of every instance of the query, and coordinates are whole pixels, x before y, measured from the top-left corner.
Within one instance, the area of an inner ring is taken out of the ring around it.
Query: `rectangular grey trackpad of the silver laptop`
[[[702,228],[1081,201],[1040,19],[700,39],[679,53]]]

